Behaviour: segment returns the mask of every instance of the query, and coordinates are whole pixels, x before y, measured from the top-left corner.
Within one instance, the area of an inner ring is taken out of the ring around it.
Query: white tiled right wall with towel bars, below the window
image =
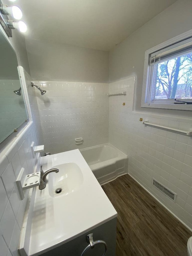
[[[192,119],[149,115],[133,110],[134,77],[110,83],[109,142],[128,154],[128,173],[192,229],[192,137],[143,125],[139,121],[189,130]],[[122,103],[125,102],[125,106]],[[177,193],[176,203],[152,186],[152,177]]]

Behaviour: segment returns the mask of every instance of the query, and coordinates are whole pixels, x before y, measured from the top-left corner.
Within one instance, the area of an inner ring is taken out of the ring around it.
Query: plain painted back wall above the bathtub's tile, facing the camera
[[[34,80],[108,83],[109,52],[26,40]]]

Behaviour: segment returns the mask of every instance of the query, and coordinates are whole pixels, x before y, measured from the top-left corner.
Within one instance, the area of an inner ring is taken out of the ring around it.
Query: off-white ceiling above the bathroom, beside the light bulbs
[[[17,0],[27,38],[110,50],[176,0]],[[10,2],[9,2],[10,3]]]

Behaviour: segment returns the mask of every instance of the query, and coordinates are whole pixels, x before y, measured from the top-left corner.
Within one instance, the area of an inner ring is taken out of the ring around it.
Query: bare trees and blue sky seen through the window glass
[[[155,99],[192,99],[192,53],[156,65]]]

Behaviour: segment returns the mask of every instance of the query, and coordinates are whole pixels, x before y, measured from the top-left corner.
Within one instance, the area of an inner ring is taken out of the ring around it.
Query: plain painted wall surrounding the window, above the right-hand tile
[[[141,108],[145,51],[191,29],[192,2],[179,0],[110,52],[110,82],[136,76],[134,110],[191,117],[190,111]]]

